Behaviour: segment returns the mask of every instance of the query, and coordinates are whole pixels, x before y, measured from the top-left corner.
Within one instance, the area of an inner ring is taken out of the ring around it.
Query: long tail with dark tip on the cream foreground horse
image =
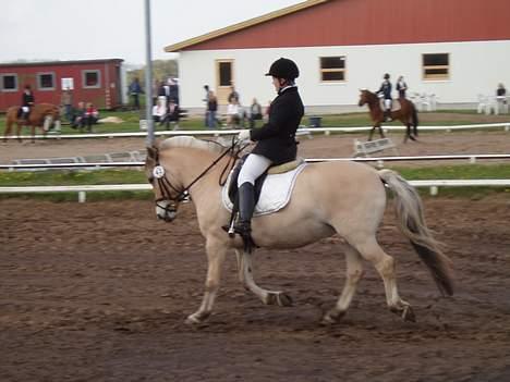
[[[442,254],[439,243],[434,239],[425,223],[418,193],[394,171],[380,170],[378,173],[393,192],[400,230],[411,241],[420,258],[429,269],[442,295],[451,296],[453,294],[451,261]]]

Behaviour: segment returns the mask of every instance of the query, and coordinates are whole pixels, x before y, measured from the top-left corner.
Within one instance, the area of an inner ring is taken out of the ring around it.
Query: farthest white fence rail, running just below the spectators
[[[487,124],[469,124],[469,125],[452,125],[452,126],[420,126],[421,132],[432,131],[446,131],[447,133],[457,130],[471,130],[471,128],[503,128],[506,132],[510,132],[510,122],[501,123],[487,123]],[[301,126],[298,130],[298,134],[317,134],[324,133],[329,135],[331,133],[359,133],[367,132],[372,126],[363,127],[311,127]],[[404,131],[405,126],[385,126],[385,131]],[[193,136],[220,136],[220,135],[234,135],[239,134],[241,130],[199,130],[199,131],[162,131],[155,132],[156,136],[174,136],[174,135],[193,135]],[[132,132],[132,133],[101,133],[101,134],[48,134],[46,137],[42,135],[36,135],[36,139],[81,139],[81,138],[129,138],[129,137],[145,137],[146,132]],[[15,136],[9,136],[8,139],[17,139]],[[32,139],[29,135],[23,135],[23,139]]]

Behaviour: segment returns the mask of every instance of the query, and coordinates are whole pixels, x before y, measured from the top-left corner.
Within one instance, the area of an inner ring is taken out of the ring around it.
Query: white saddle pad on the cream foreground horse
[[[305,167],[306,163],[303,163],[294,170],[283,174],[267,175],[263,184],[260,198],[255,206],[254,215],[257,217],[272,213],[286,207],[291,198],[292,190],[294,189],[295,180]],[[229,199],[229,184],[231,176],[232,173],[229,175],[227,183],[221,189],[221,199],[223,201],[223,206],[230,212],[232,212],[233,207]]]

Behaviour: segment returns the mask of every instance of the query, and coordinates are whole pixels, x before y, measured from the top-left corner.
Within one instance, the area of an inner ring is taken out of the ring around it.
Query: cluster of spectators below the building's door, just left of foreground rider
[[[204,101],[206,102],[206,114],[205,114],[205,126],[208,128],[216,128],[217,125],[221,125],[221,121],[218,119],[218,98],[215,91],[210,90],[208,85],[204,86],[206,91]],[[256,121],[264,119],[263,108],[258,103],[257,99],[252,100],[250,109],[246,110],[240,102],[240,96],[235,87],[232,85],[230,88],[229,97],[227,98],[227,126],[240,127],[245,125],[245,121],[250,121],[250,128],[255,127]],[[268,107],[269,109],[269,107]]]

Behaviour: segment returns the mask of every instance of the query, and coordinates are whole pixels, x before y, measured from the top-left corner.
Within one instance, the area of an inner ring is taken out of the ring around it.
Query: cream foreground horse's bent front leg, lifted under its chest
[[[240,252],[235,250],[238,257],[239,280],[244,288],[253,292],[266,305],[279,305],[289,307],[292,305],[292,298],[281,291],[266,291],[259,287],[253,280],[252,254]]]

